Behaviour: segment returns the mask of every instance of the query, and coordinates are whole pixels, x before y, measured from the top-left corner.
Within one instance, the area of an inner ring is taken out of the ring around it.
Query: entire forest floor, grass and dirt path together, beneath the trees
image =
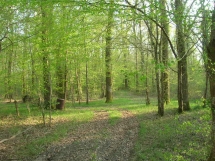
[[[42,123],[36,107],[0,102],[0,161],[169,161],[206,160],[210,110],[191,103],[192,111],[177,114],[177,102],[158,117],[156,101],[146,106],[131,93],[52,111],[52,125]]]

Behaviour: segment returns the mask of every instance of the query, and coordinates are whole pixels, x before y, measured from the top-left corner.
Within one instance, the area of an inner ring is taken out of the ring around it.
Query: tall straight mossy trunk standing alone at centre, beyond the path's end
[[[112,27],[113,27],[113,5],[114,0],[111,0],[108,10],[108,24],[106,31],[106,103],[112,102],[112,64],[111,64],[111,47],[112,47]]]

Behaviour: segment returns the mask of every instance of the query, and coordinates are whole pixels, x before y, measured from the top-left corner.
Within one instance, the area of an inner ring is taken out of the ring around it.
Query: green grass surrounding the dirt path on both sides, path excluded
[[[108,122],[114,126],[122,118],[122,110],[127,110],[140,121],[134,160],[206,160],[210,148],[208,139],[211,116],[210,110],[201,108],[200,104],[199,101],[192,101],[192,110],[178,115],[177,102],[172,101],[165,108],[165,116],[160,118],[156,115],[155,101],[146,106],[143,98],[121,92],[113,103],[107,104],[104,100],[92,101],[89,105],[67,103],[65,110],[52,111],[52,127],[43,127],[38,108],[31,108],[29,114],[25,104],[20,103],[20,117],[17,117],[14,104],[0,103],[0,129],[4,132],[0,140],[33,126],[38,131],[20,137],[20,146],[14,147],[10,153],[12,158],[32,158],[80,124],[93,120],[96,111],[107,111]],[[30,139],[31,135],[33,139]]]

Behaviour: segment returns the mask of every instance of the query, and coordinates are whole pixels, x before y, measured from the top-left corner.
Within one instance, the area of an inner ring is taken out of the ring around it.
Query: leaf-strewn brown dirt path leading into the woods
[[[121,112],[116,125],[108,123],[107,111],[95,112],[93,121],[80,125],[35,161],[130,161],[139,124],[131,112]]]

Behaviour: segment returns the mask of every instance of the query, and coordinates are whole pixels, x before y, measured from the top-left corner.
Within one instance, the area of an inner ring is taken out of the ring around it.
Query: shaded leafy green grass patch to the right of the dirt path
[[[202,109],[142,121],[135,160],[206,160],[209,120],[210,111]]]

